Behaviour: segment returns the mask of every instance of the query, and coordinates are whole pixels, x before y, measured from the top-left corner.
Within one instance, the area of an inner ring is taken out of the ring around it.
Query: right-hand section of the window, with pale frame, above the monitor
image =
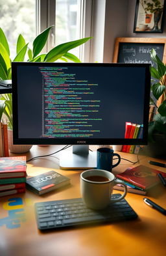
[[[91,36],[91,5],[92,0],[38,0],[38,33],[54,25],[44,51],[64,42]],[[88,55],[88,49],[89,42],[70,52],[85,61],[84,55]]]

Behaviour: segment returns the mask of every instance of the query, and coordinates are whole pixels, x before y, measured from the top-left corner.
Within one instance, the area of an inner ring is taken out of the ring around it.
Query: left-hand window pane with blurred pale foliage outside
[[[1,0],[0,27],[9,42],[10,57],[16,56],[16,43],[21,34],[26,42],[32,42],[35,36],[35,1]]]

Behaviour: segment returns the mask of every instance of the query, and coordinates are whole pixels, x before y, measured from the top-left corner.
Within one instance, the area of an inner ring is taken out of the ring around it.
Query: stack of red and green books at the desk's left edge
[[[0,197],[25,192],[26,156],[0,158]]]

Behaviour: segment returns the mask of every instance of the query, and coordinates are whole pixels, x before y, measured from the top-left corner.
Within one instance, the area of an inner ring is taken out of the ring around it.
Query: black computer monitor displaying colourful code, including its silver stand
[[[150,64],[15,62],[12,96],[14,144],[147,144]],[[125,138],[126,122],[142,136]],[[93,153],[77,149],[61,167],[95,167]]]

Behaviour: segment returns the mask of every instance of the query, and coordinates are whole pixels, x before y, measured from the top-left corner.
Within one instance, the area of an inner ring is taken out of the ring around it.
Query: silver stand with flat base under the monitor
[[[73,145],[71,150],[63,150],[60,154],[60,168],[70,169],[94,169],[97,167],[96,152],[89,151],[88,145]]]

